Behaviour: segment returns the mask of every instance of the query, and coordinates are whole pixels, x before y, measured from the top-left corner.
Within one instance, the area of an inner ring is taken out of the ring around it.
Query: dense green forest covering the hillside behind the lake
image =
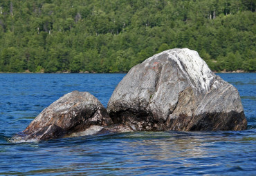
[[[127,72],[190,48],[256,70],[255,0],[1,0],[0,72]]]

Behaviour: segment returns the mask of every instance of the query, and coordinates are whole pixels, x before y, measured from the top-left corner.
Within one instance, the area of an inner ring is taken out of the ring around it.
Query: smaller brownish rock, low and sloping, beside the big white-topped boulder
[[[70,92],[45,108],[23,131],[23,139],[53,139],[90,126],[113,124],[106,108],[89,92]]]

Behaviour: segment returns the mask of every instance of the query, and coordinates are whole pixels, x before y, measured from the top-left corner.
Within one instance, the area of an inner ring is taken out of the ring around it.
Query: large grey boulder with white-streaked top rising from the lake
[[[115,124],[134,130],[244,130],[237,89],[188,48],[161,52],[134,66],[109,99]]]

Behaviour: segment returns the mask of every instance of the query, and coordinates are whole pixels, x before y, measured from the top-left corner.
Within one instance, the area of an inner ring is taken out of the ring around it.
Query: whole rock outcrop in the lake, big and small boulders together
[[[172,49],[134,66],[107,110],[89,92],[70,92],[45,108],[12,141],[134,130],[244,130],[237,89],[194,50]]]

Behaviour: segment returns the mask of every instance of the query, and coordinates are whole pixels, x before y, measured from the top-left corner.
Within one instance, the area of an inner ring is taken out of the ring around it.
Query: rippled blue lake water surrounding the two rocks
[[[256,74],[219,74],[241,95],[248,129],[136,132],[13,144],[73,90],[104,106],[124,74],[0,74],[0,175],[256,175]]]

